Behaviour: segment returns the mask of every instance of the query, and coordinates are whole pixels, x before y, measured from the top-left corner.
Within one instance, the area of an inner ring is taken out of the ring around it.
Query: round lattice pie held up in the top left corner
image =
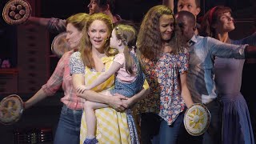
[[[30,15],[30,3],[25,0],[10,0],[2,10],[2,18],[10,25],[22,24]]]

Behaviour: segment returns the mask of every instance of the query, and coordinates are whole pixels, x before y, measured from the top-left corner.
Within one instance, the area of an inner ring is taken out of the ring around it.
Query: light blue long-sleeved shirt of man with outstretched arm
[[[214,58],[245,58],[246,45],[235,46],[214,38],[195,36],[190,42],[187,86],[193,102],[207,104],[217,98],[214,82]]]

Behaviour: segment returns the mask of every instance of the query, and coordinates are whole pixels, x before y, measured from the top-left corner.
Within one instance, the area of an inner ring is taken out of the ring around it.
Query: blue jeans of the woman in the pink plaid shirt
[[[82,110],[71,110],[64,105],[58,121],[54,144],[78,144]]]

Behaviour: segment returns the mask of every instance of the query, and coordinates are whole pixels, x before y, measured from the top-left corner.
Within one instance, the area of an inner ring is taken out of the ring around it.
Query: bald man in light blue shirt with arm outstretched
[[[220,42],[214,38],[194,34],[196,19],[189,11],[176,14],[179,30],[189,45],[190,61],[187,86],[193,102],[203,103],[210,110],[210,126],[205,134],[183,138],[187,143],[222,143],[222,104],[214,83],[214,58],[255,58],[255,46],[236,46]]]

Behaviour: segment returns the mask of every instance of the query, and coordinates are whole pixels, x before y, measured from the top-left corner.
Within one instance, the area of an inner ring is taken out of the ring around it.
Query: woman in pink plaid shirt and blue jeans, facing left
[[[61,98],[61,101],[64,105],[59,118],[54,143],[77,144],[79,142],[83,100],[78,98],[73,88],[69,62],[70,55],[78,50],[78,44],[80,38],[82,38],[82,28],[86,25],[88,18],[88,14],[79,13],[66,19],[66,40],[70,43],[70,47],[73,50],[62,55],[48,82],[24,103],[25,109],[30,108],[30,106],[40,102],[47,96],[54,95],[59,87],[62,86],[64,97]]]

